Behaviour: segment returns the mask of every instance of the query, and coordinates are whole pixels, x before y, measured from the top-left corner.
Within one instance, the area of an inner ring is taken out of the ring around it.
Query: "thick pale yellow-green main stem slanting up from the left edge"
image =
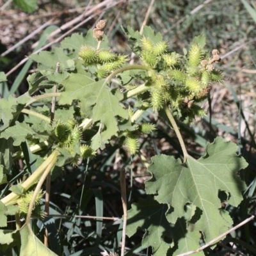
[[[47,159],[45,159],[44,163],[42,163],[35,170],[35,172],[33,172],[33,174],[22,183],[21,186],[24,188],[24,191],[27,191],[31,186],[33,186],[33,184],[35,184],[36,180],[38,180],[42,176],[42,173],[44,173],[44,170],[47,168],[47,166],[49,166],[49,164],[56,163],[58,154],[59,152],[57,150],[54,150],[52,154],[47,157]],[[9,195],[5,196],[3,199],[1,199],[1,202],[4,205],[15,204],[19,197],[20,195],[12,192]]]

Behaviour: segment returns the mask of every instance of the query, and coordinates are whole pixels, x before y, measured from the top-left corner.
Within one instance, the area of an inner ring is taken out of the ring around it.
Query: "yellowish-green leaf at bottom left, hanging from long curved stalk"
[[[54,252],[49,250],[44,244],[33,234],[27,225],[20,229],[20,256],[54,256]]]

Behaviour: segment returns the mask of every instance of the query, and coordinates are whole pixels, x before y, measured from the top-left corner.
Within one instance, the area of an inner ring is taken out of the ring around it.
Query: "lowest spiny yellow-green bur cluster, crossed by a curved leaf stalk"
[[[20,196],[20,198],[17,200],[17,204],[19,205],[19,211],[21,215],[28,214],[28,208],[32,200],[33,194],[34,194],[34,191],[28,191],[24,195]],[[38,211],[38,209],[36,208],[38,208],[38,205],[41,204],[41,199],[43,196],[44,196],[44,192],[40,190],[36,195],[35,204],[33,205],[33,208],[32,208],[33,216],[38,216],[38,217],[42,216],[43,212]]]

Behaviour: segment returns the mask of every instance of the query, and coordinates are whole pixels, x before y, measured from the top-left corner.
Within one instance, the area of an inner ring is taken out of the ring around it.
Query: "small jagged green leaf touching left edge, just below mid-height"
[[[15,122],[15,125],[8,127],[1,133],[0,138],[8,140],[13,138],[13,146],[19,146],[28,136],[35,134],[28,124]]]

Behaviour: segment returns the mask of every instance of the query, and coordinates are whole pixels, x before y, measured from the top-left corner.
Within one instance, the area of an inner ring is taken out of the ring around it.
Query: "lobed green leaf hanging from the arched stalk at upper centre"
[[[128,118],[127,111],[120,104],[123,95],[118,90],[111,92],[104,81],[94,81],[86,72],[70,74],[62,84],[65,92],[61,93],[59,104],[72,104],[74,99],[80,100],[79,106],[83,115],[104,126],[102,141],[116,135],[116,117]]]

